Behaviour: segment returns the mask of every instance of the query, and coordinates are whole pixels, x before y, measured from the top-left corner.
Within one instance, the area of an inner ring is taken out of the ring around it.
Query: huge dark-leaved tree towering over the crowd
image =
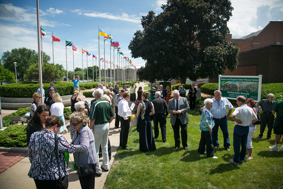
[[[140,79],[214,78],[237,67],[239,48],[225,37],[229,0],[168,0],[157,16],[142,16],[143,31],[130,42],[132,57],[146,60]]]

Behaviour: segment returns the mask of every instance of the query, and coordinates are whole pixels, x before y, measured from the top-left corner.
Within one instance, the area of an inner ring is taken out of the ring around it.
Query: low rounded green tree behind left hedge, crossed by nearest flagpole
[[[38,64],[32,64],[27,70],[25,79],[39,80]],[[61,64],[42,64],[42,82],[49,83],[54,81],[61,81],[62,77],[65,75],[66,71],[64,70]]]

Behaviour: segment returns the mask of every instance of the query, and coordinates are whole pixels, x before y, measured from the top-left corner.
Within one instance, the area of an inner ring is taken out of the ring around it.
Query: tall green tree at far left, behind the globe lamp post
[[[14,48],[10,51],[6,51],[2,55],[2,63],[4,68],[14,72],[15,66],[14,62],[17,64],[17,74],[18,79],[24,78],[30,65],[38,64],[38,53],[35,50],[22,48]],[[43,52],[43,62],[47,63],[50,61],[50,56]]]

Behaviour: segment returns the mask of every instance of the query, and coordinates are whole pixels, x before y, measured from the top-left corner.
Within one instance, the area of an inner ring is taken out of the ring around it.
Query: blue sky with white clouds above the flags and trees
[[[271,20],[283,20],[282,0],[232,0],[233,16],[228,27],[232,38],[240,38],[264,28]],[[74,67],[82,67],[82,51],[88,50],[98,56],[98,25],[113,41],[118,41],[121,51],[137,68],[145,65],[142,59],[131,58],[128,46],[134,33],[141,30],[141,16],[150,10],[161,12],[164,0],[143,1],[39,1],[40,24],[47,32],[42,38],[42,49],[51,57],[51,33],[60,42],[54,42],[54,62],[66,69],[65,38],[73,41],[78,51],[74,52]],[[26,47],[38,51],[36,0],[0,1],[0,56],[13,48]],[[110,61],[110,40],[105,42],[106,59]],[[116,49],[115,49],[116,50]],[[103,39],[100,38],[100,56],[103,57]],[[86,67],[86,54],[83,64]],[[113,47],[111,48],[113,62]],[[73,70],[72,47],[67,47],[68,71]],[[117,53],[115,51],[115,63]],[[12,63],[11,63],[12,64]],[[97,59],[98,64],[98,59]],[[95,60],[94,60],[95,65]],[[92,56],[88,56],[88,66],[92,66]]]

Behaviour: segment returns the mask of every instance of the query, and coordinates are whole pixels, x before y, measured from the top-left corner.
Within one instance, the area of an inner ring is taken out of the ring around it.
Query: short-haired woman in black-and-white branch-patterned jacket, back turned
[[[45,121],[45,130],[34,132],[30,137],[28,175],[34,179],[37,188],[59,188],[60,180],[61,188],[68,188],[65,152],[74,153],[81,146],[74,146],[63,135],[57,134],[62,125],[61,118],[50,115]]]

